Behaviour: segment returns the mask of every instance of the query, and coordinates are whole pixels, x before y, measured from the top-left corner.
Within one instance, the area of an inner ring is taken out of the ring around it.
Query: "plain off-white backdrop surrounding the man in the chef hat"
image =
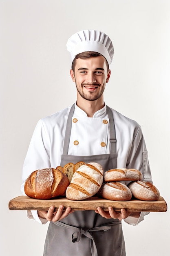
[[[10,211],[36,123],[76,99],[68,38],[104,31],[115,55],[106,104],[142,127],[152,179],[170,204],[170,1],[0,0],[0,248],[41,256],[47,225]],[[127,256],[170,255],[170,211],[123,223]],[[64,239],[64,238],[61,238]],[[6,242],[6,243],[5,243]]]

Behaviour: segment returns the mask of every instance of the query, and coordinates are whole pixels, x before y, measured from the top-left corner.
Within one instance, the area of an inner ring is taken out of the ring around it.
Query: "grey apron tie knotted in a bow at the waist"
[[[92,229],[82,229],[82,228],[78,228],[78,227],[74,227],[68,224],[65,224],[63,222],[57,221],[57,222],[53,222],[55,225],[61,226],[61,227],[65,227],[67,229],[72,229],[75,232],[72,234],[72,242],[79,242],[79,240],[81,239],[82,235],[88,237],[91,239],[91,254],[92,256],[97,256],[97,247],[95,245],[95,241],[93,236],[90,234],[90,232],[93,231],[100,231],[100,230],[104,230],[107,231],[109,229],[111,229],[110,226],[99,226],[99,227],[93,227]]]

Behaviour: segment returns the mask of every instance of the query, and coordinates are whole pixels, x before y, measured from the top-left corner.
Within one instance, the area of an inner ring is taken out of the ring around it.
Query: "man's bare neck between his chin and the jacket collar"
[[[86,112],[88,117],[93,117],[95,112],[102,109],[104,107],[104,100],[103,99],[97,99],[95,101],[88,101],[85,99],[81,99],[79,101],[77,99],[77,106],[81,108],[84,112]]]

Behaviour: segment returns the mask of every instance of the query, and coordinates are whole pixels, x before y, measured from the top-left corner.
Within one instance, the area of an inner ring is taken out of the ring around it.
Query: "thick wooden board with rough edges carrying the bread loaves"
[[[111,206],[115,211],[120,211],[124,208],[127,211],[153,211],[165,212],[167,211],[166,201],[160,197],[158,201],[141,201],[132,199],[130,201],[111,201],[98,197],[91,197],[82,201],[72,201],[67,198],[57,198],[51,200],[38,200],[29,198],[28,196],[21,195],[9,201],[10,210],[39,210],[48,211],[49,207],[54,206],[55,210],[63,204],[64,209],[71,207],[75,211],[96,210],[97,207],[102,207],[104,211],[108,211]]]

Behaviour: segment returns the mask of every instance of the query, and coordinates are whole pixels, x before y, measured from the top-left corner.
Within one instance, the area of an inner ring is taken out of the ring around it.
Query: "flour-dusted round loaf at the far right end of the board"
[[[159,190],[151,182],[148,181],[134,181],[128,184],[132,195],[144,201],[157,201],[160,197]]]

